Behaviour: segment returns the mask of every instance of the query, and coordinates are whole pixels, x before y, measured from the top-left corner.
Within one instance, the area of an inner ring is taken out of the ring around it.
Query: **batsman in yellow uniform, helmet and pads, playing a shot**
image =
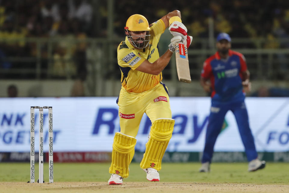
[[[161,57],[158,42],[170,24],[181,22],[180,17],[180,12],[175,10],[151,25],[139,14],[130,16],[126,22],[126,39],[117,48],[122,84],[117,99],[120,132],[115,133],[113,139],[109,184],[122,184],[123,178],[129,176],[135,137],[144,113],[150,118],[152,126],[140,167],[147,173],[148,180],[160,180],[158,170],[161,169],[161,161],[175,123],[169,105],[169,92],[161,82],[162,70],[169,63],[176,43],[187,41],[187,37],[173,37],[169,49]]]

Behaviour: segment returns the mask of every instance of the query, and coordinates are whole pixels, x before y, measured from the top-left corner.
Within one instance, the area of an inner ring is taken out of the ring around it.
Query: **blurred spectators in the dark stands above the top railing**
[[[102,30],[95,29],[94,17],[105,17],[107,5],[98,4],[95,13],[93,0],[1,0],[1,36],[47,37],[57,35],[105,36],[105,23]],[[150,22],[169,11],[179,9],[183,23],[194,37],[207,37],[208,18],[215,21],[215,33],[229,33],[231,37],[278,38],[288,37],[289,2],[282,0],[234,0],[191,2],[159,0],[162,6],[152,6],[154,1],[146,1],[142,6],[137,1],[115,2],[115,33],[123,36],[123,26],[130,14],[143,13]],[[162,8],[160,8],[162,7]],[[266,45],[284,46],[284,45]]]

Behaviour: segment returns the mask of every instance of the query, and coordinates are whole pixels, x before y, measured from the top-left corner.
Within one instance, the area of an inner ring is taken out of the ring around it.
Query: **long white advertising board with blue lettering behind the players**
[[[30,151],[30,106],[53,106],[54,152],[111,151],[114,133],[120,130],[116,97],[1,98],[0,152]],[[200,152],[204,148],[208,97],[171,97],[176,120],[168,151]],[[247,98],[250,127],[257,151],[289,150],[289,99]],[[39,111],[35,109],[35,138]],[[215,151],[244,151],[235,117],[228,112]],[[144,151],[151,122],[141,121],[135,150]],[[48,151],[48,110],[44,109],[44,151]],[[35,143],[38,151],[38,140]]]

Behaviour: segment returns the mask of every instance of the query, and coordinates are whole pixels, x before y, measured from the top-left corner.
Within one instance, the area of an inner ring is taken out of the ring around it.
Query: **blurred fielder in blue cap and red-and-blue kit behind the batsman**
[[[199,171],[210,172],[214,145],[229,110],[233,112],[237,121],[249,162],[248,171],[262,169],[266,163],[258,159],[244,103],[244,90],[251,89],[246,60],[244,55],[231,50],[231,38],[227,33],[220,33],[217,36],[216,47],[217,52],[204,62],[200,78],[204,90],[211,93],[212,105],[202,166]]]

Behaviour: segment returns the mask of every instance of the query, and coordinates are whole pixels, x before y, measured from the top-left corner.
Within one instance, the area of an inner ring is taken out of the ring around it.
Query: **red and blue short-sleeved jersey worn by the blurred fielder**
[[[219,52],[210,56],[203,66],[201,77],[211,81],[212,103],[244,101],[242,72],[247,70],[243,54],[229,50],[229,57],[221,59]]]

